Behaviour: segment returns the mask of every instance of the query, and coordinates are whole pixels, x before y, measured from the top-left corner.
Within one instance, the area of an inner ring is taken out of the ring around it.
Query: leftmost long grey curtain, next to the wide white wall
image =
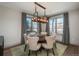
[[[25,41],[24,41],[24,33],[26,32],[26,26],[25,25],[27,25],[27,23],[25,23],[26,22],[26,13],[22,13],[22,20],[21,20],[21,44],[24,44],[25,43]]]

